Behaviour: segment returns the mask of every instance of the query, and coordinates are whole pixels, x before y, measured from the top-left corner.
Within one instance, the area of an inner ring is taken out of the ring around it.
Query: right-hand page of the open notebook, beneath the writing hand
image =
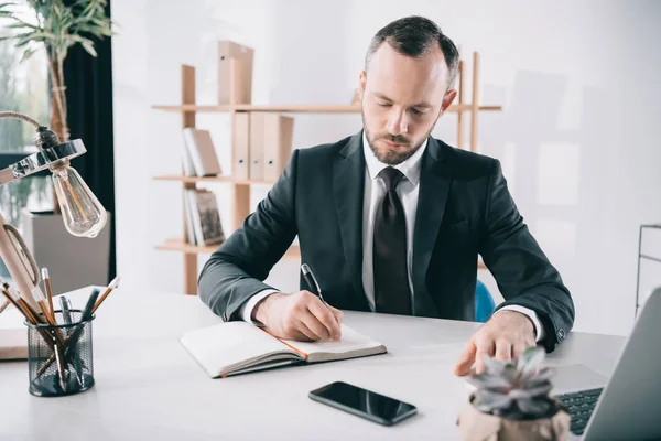
[[[381,343],[354,331],[347,325],[343,324],[340,326],[342,337],[339,341],[324,340],[317,342],[295,342],[292,340],[283,340],[283,342],[307,354],[311,362],[339,359],[386,352],[386,348]],[[322,354],[336,354],[337,356],[322,356]],[[347,357],[343,355],[346,355]]]

